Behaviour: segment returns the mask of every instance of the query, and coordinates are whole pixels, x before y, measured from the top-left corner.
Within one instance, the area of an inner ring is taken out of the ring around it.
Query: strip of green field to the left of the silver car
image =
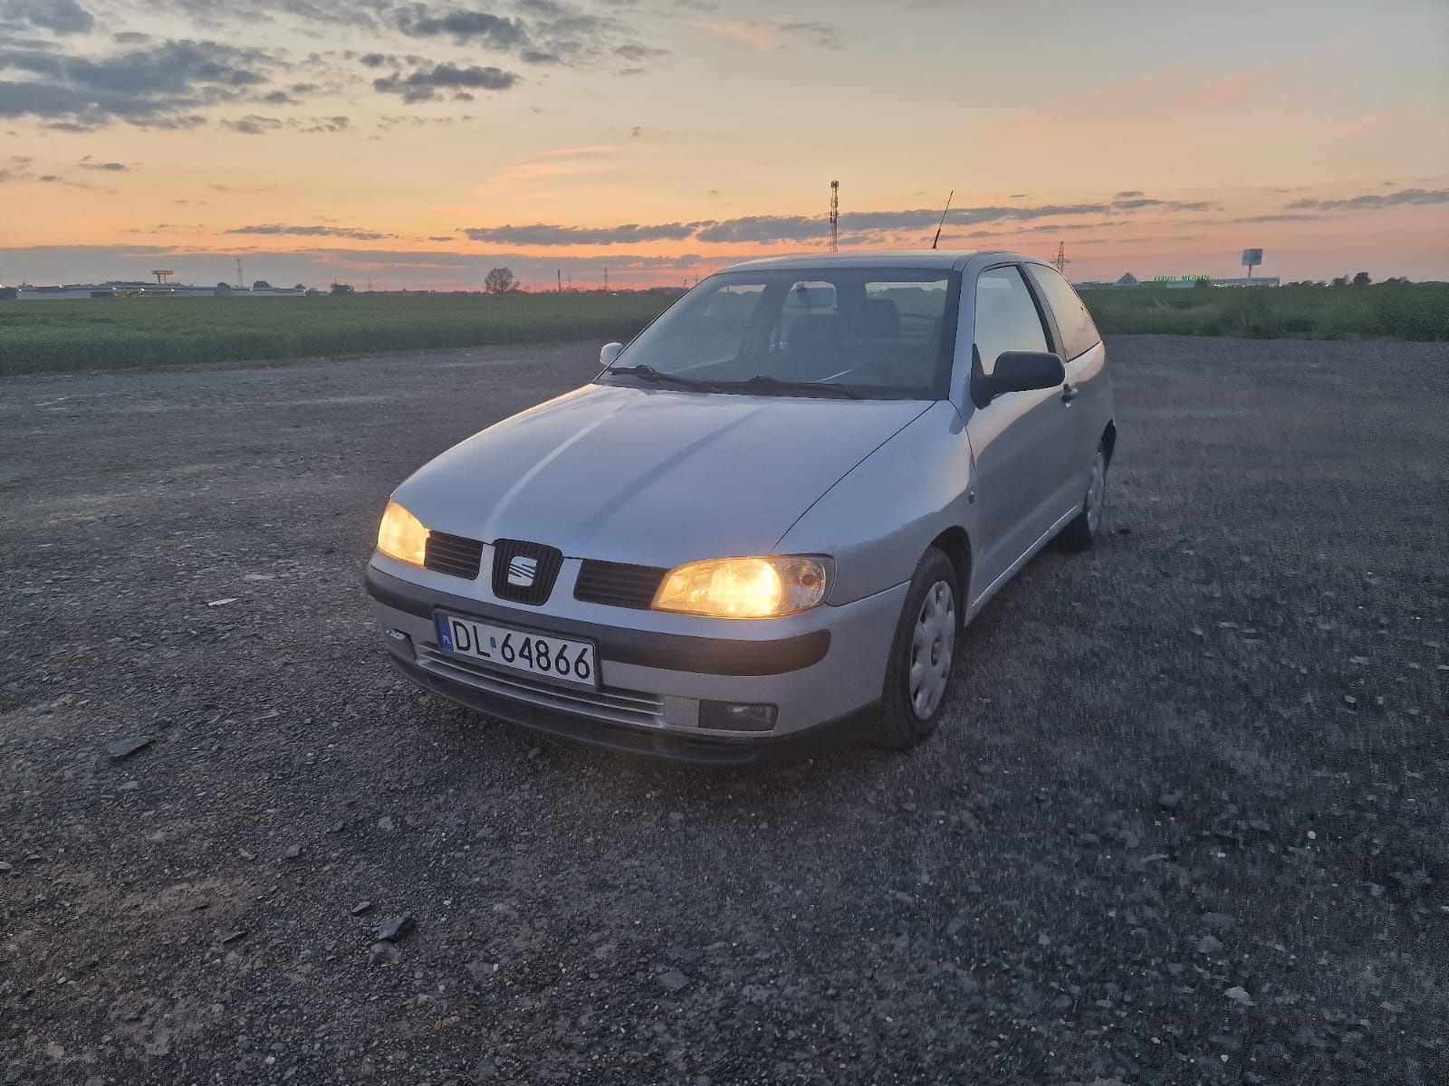
[[[0,374],[629,339],[652,294],[0,301]]]

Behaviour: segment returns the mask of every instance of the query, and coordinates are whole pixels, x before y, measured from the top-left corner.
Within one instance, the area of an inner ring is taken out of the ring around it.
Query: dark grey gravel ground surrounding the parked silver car
[[[593,345],[0,382],[0,1083],[1449,1082],[1449,353],[1108,349],[1107,542],[749,772],[374,641],[391,485]]]

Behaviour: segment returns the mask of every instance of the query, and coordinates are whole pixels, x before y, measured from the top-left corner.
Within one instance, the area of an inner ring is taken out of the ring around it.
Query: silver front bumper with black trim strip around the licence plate
[[[381,639],[420,686],[488,715],[571,738],[685,762],[748,763],[826,731],[855,731],[880,701],[906,585],[785,618],[730,621],[572,598],[565,560],[543,607],[374,555],[367,589]],[[597,646],[600,688],[578,689],[443,653],[438,611]],[[700,727],[700,704],[777,707],[768,731]]]

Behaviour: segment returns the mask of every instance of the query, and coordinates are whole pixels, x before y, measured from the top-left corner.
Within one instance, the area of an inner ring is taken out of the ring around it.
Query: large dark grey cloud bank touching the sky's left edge
[[[117,122],[194,127],[194,110],[243,98],[275,65],[261,49],[220,42],[171,41],[99,58],[0,48],[0,117],[39,117],[68,132]]]

